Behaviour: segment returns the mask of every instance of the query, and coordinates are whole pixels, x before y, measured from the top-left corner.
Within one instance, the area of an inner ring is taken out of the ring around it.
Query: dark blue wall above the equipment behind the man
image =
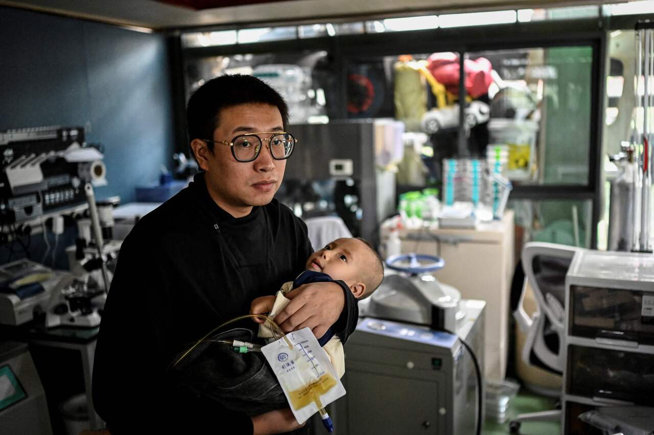
[[[105,147],[96,197],[158,181],[174,150],[165,37],[0,7],[0,131],[87,122]]]

